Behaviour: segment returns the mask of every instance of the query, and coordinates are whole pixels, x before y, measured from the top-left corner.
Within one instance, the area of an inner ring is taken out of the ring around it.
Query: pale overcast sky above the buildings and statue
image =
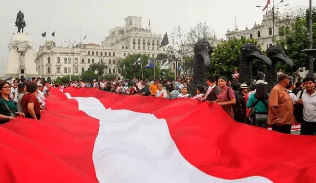
[[[271,0],[272,1],[272,0]],[[279,0],[276,0],[278,2]],[[316,0],[313,0],[313,5]],[[198,22],[206,22],[215,31],[216,37],[226,38],[227,28],[232,30],[237,17],[238,29],[249,29],[255,22],[261,23],[267,0],[0,0],[0,57],[8,58],[7,42],[12,33],[16,14],[21,9],[34,49],[45,40],[52,40],[55,31],[56,44],[66,46],[63,41],[79,41],[87,35],[86,42],[100,44],[115,26],[124,26],[124,18],[141,16],[143,28],[151,20],[153,33],[169,38],[174,27],[188,31]],[[284,0],[290,6],[306,5],[309,0]],[[282,10],[282,9],[281,9]],[[47,36],[42,38],[41,33]]]

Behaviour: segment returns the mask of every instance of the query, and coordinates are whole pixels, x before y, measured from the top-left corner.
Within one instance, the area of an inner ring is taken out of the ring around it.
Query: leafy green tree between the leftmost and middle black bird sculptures
[[[239,69],[240,47],[244,43],[252,43],[261,50],[261,46],[254,39],[230,39],[219,43],[210,56],[211,63],[209,72],[216,76],[224,75],[227,76],[227,78],[231,78],[233,71]],[[262,61],[255,60],[252,70],[256,71],[258,67],[262,68],[262,66]],[[256,72],[253,72],[253,74],[256,74]]]

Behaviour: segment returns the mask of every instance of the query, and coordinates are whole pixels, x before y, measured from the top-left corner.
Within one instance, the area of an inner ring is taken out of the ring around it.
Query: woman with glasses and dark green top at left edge
[[[16,115],[25,116],[23,112],[17,112],[17,108],[9,97],[11,87],[6,81],[0,82],[0,124],[15,119]]]

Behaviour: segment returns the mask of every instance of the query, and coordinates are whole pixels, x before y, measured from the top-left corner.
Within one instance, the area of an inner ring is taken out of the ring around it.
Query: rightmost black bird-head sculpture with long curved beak
[[[272,61],[272,65],[268,66],[265,80],[269,86],[273,86],[277,80],[277,63],[284,61],[287,65],[293,68],[293,62],[279,46],[271,46],[267,49],[267,55]]]

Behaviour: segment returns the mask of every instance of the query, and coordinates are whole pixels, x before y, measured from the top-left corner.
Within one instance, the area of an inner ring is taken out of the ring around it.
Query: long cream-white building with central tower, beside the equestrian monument
[[[130,54],[147,54],[156,58],[159,53],[166,53],[166,46],[159,47],[161,35],[142,28],[141,18],[125,18],[125,26],[111,29],[101,45],[62,47],[56,46],[54,41],[46,41],[35,58],[38,74],[48,81],[69,74],[80,75],[91,64],[98,62],[108,66],[106,73],[118,74],[121,59]]]

